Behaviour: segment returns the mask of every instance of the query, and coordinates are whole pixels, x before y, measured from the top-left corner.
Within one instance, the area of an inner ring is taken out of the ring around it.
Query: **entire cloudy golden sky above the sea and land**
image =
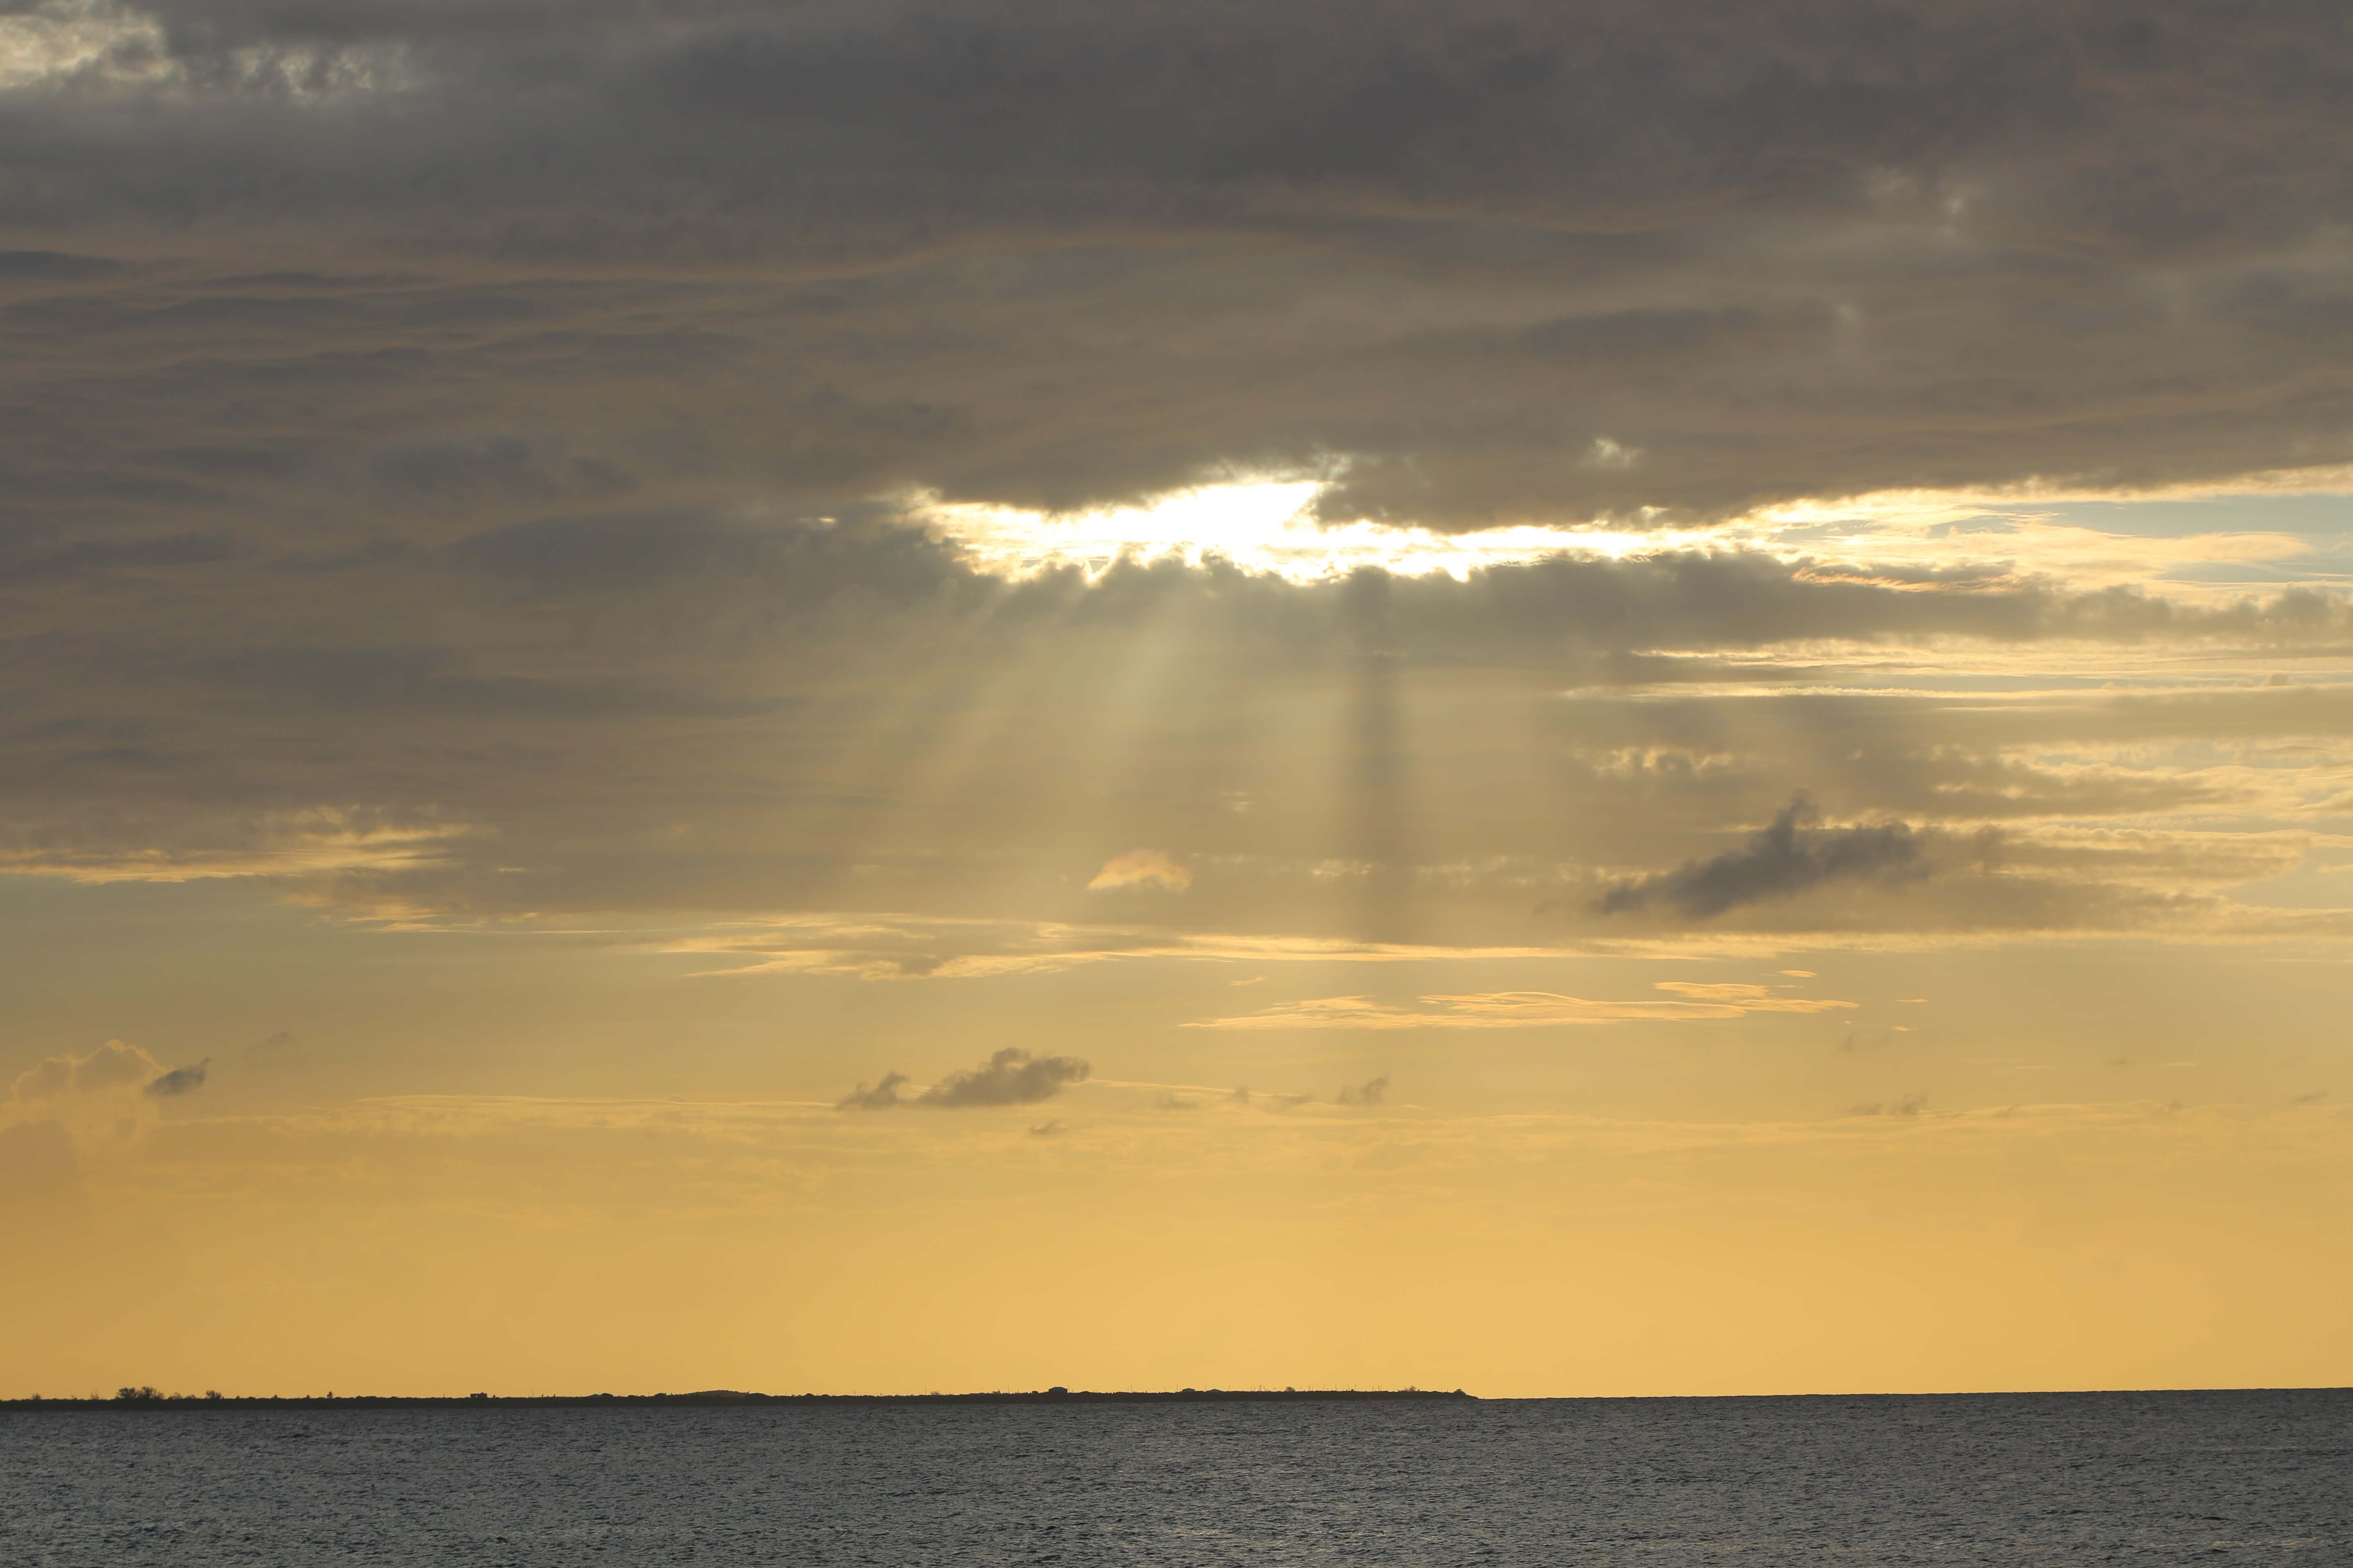
[[[2348,94],[0,0],[0,1396],[2353,1382]]]

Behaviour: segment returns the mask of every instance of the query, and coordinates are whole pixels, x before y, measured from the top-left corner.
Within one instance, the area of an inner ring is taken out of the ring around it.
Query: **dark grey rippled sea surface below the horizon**
[[[0,1413],[0,1563],[2353,1563],[2353,1392]]]

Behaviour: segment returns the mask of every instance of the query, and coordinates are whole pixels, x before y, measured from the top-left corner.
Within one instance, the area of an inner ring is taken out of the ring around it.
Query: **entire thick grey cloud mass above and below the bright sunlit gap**
[[[2325,672],[2353,618],[2311,588],[1005,583],[904,510],[1289,463],[1452,529],[2337,461],[2334,12],[153,14],[0,89],[0,865],[1035,931],[1160,846],[1193,931],[1555,940],[2134,926],[2249,860],[2186,818],[2341,813],[2337,686],[1937,689],[2078,644]],[[1852,689],[1852,644],[1922,689]],[[1758,860],[1800,788],[1937,875],[1795,825]],[[2038,837],[2118,820],[2174,835],[2165,886]],[[1059,950],[927,931],[779,952]]]

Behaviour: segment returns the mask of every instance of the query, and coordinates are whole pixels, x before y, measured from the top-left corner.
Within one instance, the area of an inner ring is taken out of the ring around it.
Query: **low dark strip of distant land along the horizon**
[[[482,1406],[1061,1406],[1061,1403],[1231,1403],[1285,1399],[1478,1399],[1461,1389],[1160,1389],[1092,1392],[1031,1389],[988,1394],[746,1394],[739,1389],[699,1389],[694,1394],[162,1394],[153,1387],[125,1387],[113,1394],[49,1399],[0,1399],[0,1410],[325,1410],[325,1408],[464,1408]]]

